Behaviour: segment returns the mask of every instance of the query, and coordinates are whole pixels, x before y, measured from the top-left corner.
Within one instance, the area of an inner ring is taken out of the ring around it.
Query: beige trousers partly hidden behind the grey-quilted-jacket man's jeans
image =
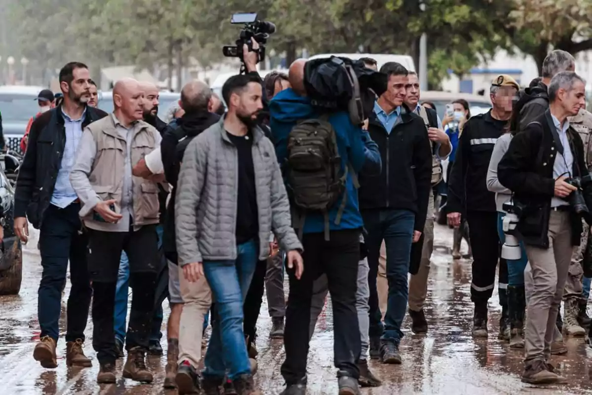
[[[210,285],[202,276],[196,282],[189,282],[179,266],[179,283],[183,298],[183,311],[179,325],[179,361],[188,361],[192,367],[198,368],[201,359],[201,339],[204,335],[204,317],[212,304]]]

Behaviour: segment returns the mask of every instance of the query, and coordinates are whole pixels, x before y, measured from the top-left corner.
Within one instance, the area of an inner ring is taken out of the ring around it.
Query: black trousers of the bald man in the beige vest
[[[156,226],[146,225],[136,232],[89,230],[88,265],[94,291],[92,346],[100,364],[115,363],[117,357],[113,314],[121,251],[130,260],[133,290],[126,349],[139,347],[146,351],[148,348],[159,267]]]

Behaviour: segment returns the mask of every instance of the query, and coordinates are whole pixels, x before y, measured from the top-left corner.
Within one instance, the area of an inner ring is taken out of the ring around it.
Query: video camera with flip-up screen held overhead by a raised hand
[[[249,46],[249,51],[253,50],[252,38],[259,43],[259,62],[265,60],[265,44],[269,34],[275,33],[275,25],[271,22],[258,21],[256,12],[246,12],[232,15],[231,24],[244,24],[240,31],[239,39],[236,40],[236,46],[224,46],[222,53],[226,57],[238,57],[243,62],[243,45]],[[241,68],[241,72],[243,68]]]

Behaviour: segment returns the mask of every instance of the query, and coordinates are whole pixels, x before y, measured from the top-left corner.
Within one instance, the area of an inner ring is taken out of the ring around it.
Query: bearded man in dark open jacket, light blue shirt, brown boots
[[[33,357],[45,368],[57,367],[58,320],[69,261],[72,289],[67,303],[66,364],[89,367],[91,360],[82,351],[92,294],[86,262],[88,240],[78,216],[81,205],[69,174],[82,129],[107,114],[86,105],[91,86],[86,65],[67,63],[60,70],[59,79],[63,104],[38,117],[31,126],[15,191],[14,230],[23,243],[28,240],[27,219],[40,230],[41,340]]]

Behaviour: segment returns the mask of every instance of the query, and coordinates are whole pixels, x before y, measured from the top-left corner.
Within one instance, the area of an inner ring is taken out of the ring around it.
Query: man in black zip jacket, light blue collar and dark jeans
[[[368,131],[378,144],[382,173],[360,175],[359,204],[370,272],[370,353],[385,364],[400,364],[401,325],[407,310],[411,244],[422,235],[432,178],[432,150],[422,118],[404,104],[408,72],[399,63],[382,66],[387,91],[369,116]],[[387,248],[388,308],[385,327],[378,307],[377,274],[382,240]],[[382,338],[379,340],[380,336]]]

